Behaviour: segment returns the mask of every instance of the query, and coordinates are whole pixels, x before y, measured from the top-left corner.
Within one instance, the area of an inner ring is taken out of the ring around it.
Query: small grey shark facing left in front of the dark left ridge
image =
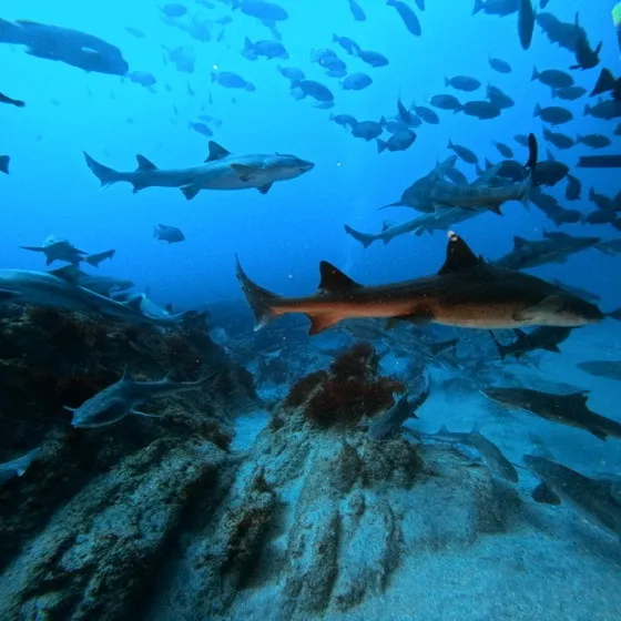
[[[210,375],[196,381],[173,381],[169,374],[157,381],[133,381],[125,370],[119,381],[96,393],[80,407],[65,406],[64,409],[73,414],[71,425],[80,429],[105,427],[130,415],[161,418],[160,415],[143,414],[135,408],[155,397],[198,390],[212,377]]]

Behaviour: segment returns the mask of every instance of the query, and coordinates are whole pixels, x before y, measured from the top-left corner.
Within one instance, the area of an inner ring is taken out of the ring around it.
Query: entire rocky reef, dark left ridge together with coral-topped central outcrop
[[[252,380],[200,324],[160,334],[30,310],[0,335],[0,455],[43,449],[0,488],[3,619],[338,617],[388,592],[408,558],[507,532],[520,510],[450,448],[368,438],[360,420],[405,389],[379,376],[369,346],[299,379],[234,455]],[[61,406],[125,364],[140,378],[174,366],[221,379],[153,401],[160,420],[72,429]]]

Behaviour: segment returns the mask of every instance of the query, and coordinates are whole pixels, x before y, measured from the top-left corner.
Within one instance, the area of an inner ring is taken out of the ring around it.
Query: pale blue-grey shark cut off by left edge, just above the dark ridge
[[[181,313],[164,319],[145,315],[138,305],[122,304],[81,286],[74,269],[73,265],[52,272],[0,269],[0,304],[95,312],[128,322],[163,326],[180,323],[187,316]]]

